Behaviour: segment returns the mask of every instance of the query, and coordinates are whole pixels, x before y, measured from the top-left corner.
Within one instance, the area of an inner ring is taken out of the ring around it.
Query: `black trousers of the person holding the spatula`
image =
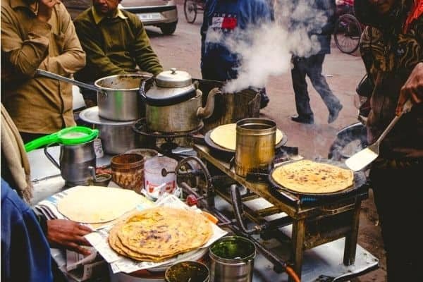
[[[422,166],[372,169],[370,179],[386,250],[388,281],[423,281]]]

